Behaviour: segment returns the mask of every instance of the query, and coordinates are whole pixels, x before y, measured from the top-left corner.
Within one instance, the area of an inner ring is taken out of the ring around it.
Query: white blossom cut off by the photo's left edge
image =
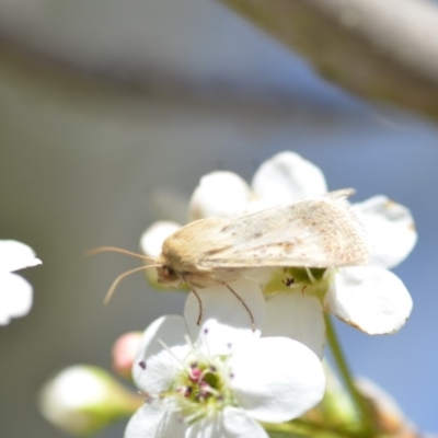
[[[32,286],[14,270],[39,265],[33,250],[13,240],[0,241],[0,325],[24,316],[32,307]]]

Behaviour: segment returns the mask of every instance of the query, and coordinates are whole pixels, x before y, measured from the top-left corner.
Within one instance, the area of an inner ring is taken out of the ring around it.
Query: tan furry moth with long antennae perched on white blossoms
[[[159,283],[170,287],[187,284],[199,302],[197,288],[223,285],[251,310],[229,286],[249,269],[261,267],[331,268],[366,264],[368,246],[360,222],[351,211],[344,189],[325,196],[304,198],[292,204],[234,218],[205,218],[189,222],[163,242],[154,264],[122,274],[113,283],[107,299],[127,275],[155,267]],[[114,247],[140,258],[139,254]]]

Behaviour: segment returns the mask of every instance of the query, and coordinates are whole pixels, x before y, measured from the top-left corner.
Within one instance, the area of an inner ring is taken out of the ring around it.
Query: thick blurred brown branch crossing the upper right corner
[[[330,81],[438,120],[438,7],[426,0],[220,0]]]

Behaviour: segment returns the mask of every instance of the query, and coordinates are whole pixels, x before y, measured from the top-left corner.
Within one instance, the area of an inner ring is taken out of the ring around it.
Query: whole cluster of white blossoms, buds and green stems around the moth
[[[241,223],[239,217],[265,214],[267,208],[278,211],[281,205],[296,208],[301,200],[325,203],[338,196],[330,194],[320,169],[296,153],[283,152],[261,165],[251,185],[231,172],[204,176],[193,193],[188,222],[214,217]],[[200,274],[191,277],[189,269],[176,268],[163,256],[164,241],[182,224],[153,223],[140,241],[145,256],[155,260],[157,269],[146,270],[149,281],[158,288],[185,281],[189,293],[184,316],[164,315],[142,336],[130,333],[115,344],[114,370],[124,377],[131,371],[140,399],[95,368],[76,367],[43,388],[43,414],[66,430],[91,434],[135,412],[125,438],[267,438],[267,430],[281,436],[325,436],[328,429],[333,436],[365,437],[411,431],[404,416],[382,402],[388,397],[376,395],[369,387],[355,387],[344,376],[347,396],[322,366],[326,336],[333,346],[330,313],[374,335],[400,330],[412,310],[408,291],[389,270],[416,243],[411,212],[382,195],[342,205],[348,214],[353,211],[359,234],[366,235],[369,260],[361,265],[312,265],[313,251],[304,266],[278,267],[264,264],[262,251],[256,266],[240,270],[242,275],[233,276],[229,269],[231,279],[218,274],[207,281]],[[313,212],[307,210],[303,221],[314,222]],[[333,235],[345,226],[336,218],[330,217],[335,223]],[[300,239],[320,239],[309,230],[304,227]],[[344,242],[337,243],[342,250]],[[184,262],[188,266],[186,258],[195,250],[188,244]],[[78,391],[83,385],[88,391]],[[293,429],[291,420],[300,416],[302,422]]]

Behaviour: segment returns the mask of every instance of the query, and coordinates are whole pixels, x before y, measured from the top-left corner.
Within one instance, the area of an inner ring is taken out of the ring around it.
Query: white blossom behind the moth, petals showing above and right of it
[[[231,172],[204,176],[193,194],[189,219],[229,217],[326,192],[319,168],[293,152],[281,152],[261,165],[251,187]],[[403,283],[388,269],[401,263],[416,243],[411,212],[382,195],[353,205],[353,209],[369,240],[369,265],[278,269],[270,281],[261,284],[266,296],[264,335],[290,336],[321,357],[324,311],[368,334],[394,333],[403,326],[411,314],[412,299]],[[154,231],[149,229],[146,234],[151,240]],[[159,240],[162,242],[166,235]],[[142,251],[157,256],[150,244],[142,244]]]

